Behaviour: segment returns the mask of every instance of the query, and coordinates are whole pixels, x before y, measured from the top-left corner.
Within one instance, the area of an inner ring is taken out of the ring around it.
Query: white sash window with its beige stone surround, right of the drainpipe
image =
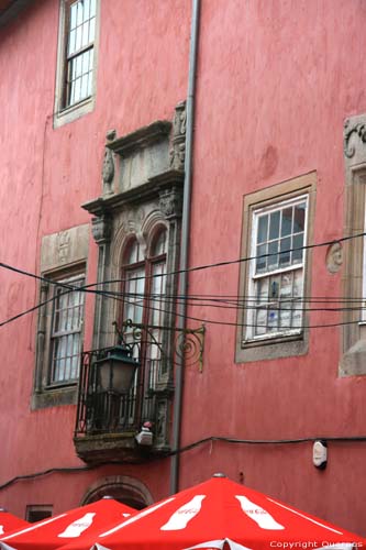
[[[315,172],[243,197],[239,363],[308,352],[315,199]]]

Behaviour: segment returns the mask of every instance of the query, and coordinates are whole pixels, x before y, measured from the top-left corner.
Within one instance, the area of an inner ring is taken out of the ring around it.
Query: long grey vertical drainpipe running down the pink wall
[[[192,19],[190,33],[190,52],[188,68],[188,94],[187,94],[187,127],[186,127],[186,157],[185,157],[185,188],[181,219],[181,244],[180,244],[180,282],[179,293],[187,295],[188,290],[188,245],[190,227],[190,197],[192,182],[192,153],[193,153],[193,125],[195,125],[195,88],[196,88],[196,65],[198,51],[198,33],[200,19],[200,0],[192,0]],[[178,307],[177,328],[186,327],[186,300],[181,300]],[[171,448],[179,449],[180,446],[180,421],[181,421],[181,402],[184,389],[184,359],[176,358],[176,377],[174,396],[174,417],[171,428]],[[178,491],[179,484],[179,454],[171,457],[170,463],[170,494]]]

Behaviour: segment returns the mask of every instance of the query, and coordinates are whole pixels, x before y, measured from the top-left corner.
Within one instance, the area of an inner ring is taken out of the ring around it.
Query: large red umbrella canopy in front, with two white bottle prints
[[[334,546],[336,544],[336,546]],[[300,550],[366,548],[366,540],[215,474],[145,508],[96,539],[95,549]]]

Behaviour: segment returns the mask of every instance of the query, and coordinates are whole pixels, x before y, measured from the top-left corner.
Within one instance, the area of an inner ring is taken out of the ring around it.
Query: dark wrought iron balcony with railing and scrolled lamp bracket
[[[117,332],[127,361],[134,359],[138,366],[130,388],[123,391],[115,383],[115,365],[108,371],[114,382],[106,384],[102,380],[101,365],[108,363],[115,348],[81,354],[74,442],[78,457],[86,462],[138,462],[152,452],[169,450],[174,356],[185,358],[186,366],[196,363],[202,369],[203,327],[176,334],[126,321]],[[146,422],[152,428],[152,444],[143,446],[135,436]]]

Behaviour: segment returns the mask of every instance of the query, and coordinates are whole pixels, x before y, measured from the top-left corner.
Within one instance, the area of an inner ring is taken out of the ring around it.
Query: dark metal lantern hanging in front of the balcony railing
[[[114,345],[96,363],[99,369],[100,385],[104,392],[129,393],[136,369],[140,366],[138,360],[132,356],[129,348]]]

